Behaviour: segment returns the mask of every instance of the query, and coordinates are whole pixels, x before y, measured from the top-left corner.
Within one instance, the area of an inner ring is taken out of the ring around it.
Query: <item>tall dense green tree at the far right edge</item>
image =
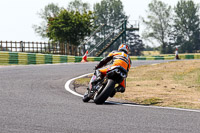
[[[180,52],[200,49],[199,6],[192,0],[180,0],[175,7],[174,39]]]

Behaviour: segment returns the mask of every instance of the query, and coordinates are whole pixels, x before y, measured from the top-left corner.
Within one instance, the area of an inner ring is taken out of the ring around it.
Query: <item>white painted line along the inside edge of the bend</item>
[[[76,77],[76,78],[73,78],[73,79],[70,79],[68,80],[66,83],[65,83],[65,89],[72,93],[73,95],[76,95],[76,96],[79,96],[79,97],[83,97],[83,95],[73,91],[70,89],[69,85],[70,83],[73,81],[73,80],[76,80],[76,79],[79,79],[79,78],[82,78],[82,77],[85,77],[85,76],[88,76],[92,73],[89,73],[89,74],[84,74],[84,75],[81,75],[79,77]],[[106,101],[106,103],[111,103],[111,104],[116,104],[116,105],[124,105],[124,106],[131,106],[131,107],[140,107],[140,108],[154,108],[154,109],[168,109],[168,110],[177,110],[177,111],[187,111],[187,112],[196,112],[196,113],[200,113],[200,110],[192,110],[192,109],[182,109],[182,108],[173,108],[173,107],[159,107],[159,106],[144,106],[144,105],[134,105],[134,104],[126,104],[126,103],[117,103],[117,102],[110,102],[110,101]]]

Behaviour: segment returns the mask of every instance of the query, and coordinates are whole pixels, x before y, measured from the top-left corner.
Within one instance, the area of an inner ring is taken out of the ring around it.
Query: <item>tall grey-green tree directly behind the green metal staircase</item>
[[[102,0],[100,3],[94,4],[93,11],[95,16],[95,26],[105,25],[102,30],[94,36],[95,43],[93,43],[93,45],[97,45],[99,42],[103,41],[104,38],[107,38],[119,24],[127,19],[121,0]],[[114,38],[114,34],[109,38]],[[109,41],[110,40],[106,40],[105,44]],[[109,50],[116,49],[119,44],[120,43],[117,43],[117,45],[116,43],[113,44]]]

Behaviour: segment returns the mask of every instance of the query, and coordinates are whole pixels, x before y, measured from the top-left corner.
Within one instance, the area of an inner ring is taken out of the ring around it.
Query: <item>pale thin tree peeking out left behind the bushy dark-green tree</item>
[[[60,7],[57,4],[51,3],[44,7],[44,10],[41,10],[38,15],[42,19],[40,25],[33,25],[35,32],[42,38],[47,38],[47,23],[48,18],[56,17],[60,12]]]

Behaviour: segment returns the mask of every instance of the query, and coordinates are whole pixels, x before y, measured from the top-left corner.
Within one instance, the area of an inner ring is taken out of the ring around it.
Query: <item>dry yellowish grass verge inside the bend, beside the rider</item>
[[[75,82],[88,85],[89,77]],[[133,67],[125,93],[115,97],[144,105],[200,109],[200,61]]]

